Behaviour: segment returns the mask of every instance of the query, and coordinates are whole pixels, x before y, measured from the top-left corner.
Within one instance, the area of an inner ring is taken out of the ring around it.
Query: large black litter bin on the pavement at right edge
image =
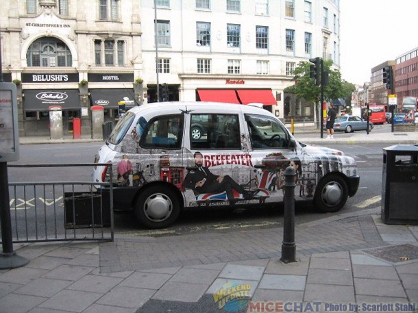
[[[382,221],[418,225],[418,145],[393,145],[383,151]]]

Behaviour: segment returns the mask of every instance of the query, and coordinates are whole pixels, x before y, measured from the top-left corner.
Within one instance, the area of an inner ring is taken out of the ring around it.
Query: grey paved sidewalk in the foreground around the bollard
[[[384,225],[380,208],[297,225],[289,264],[282,236],[277,227],[22,245],[29,264],[0,271],[0,312],[417,312],[418,226]],[[246,295],[239,310],[232,299]]]

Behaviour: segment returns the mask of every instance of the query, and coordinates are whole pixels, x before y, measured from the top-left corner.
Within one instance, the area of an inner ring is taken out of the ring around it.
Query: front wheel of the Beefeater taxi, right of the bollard
[[[313,203],[320,212],[337,212],[348,198],[348,186],[340,175],[323,177],[315,190]]]

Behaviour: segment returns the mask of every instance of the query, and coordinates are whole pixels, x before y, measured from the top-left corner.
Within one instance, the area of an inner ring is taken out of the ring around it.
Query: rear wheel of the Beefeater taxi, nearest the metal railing
[[[152,186],[140,191],[135,215],[142,225],[151,229],[168,227],[180,214],[180,201],[173,190]]]

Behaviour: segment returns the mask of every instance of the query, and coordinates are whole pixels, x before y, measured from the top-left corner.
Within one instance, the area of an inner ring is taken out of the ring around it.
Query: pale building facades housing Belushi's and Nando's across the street
[[[20,136],[49,134],[51,105],[64,134],[73,118],[89,134],[90,107],[112,120],[123,99],[261,102],[282,118],[313,117],[283,90],[300,61],[339,68],[339,0],[155,1],[2,1],[1,66],[18,86]]]

